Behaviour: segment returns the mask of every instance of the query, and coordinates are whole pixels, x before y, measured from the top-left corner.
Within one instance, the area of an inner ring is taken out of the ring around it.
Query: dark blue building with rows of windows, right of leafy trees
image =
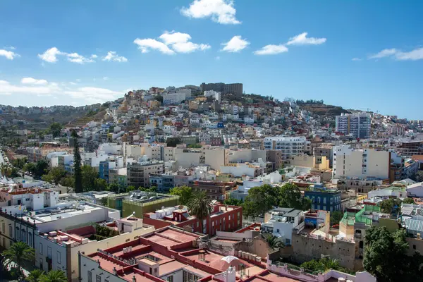
[[[341,210],[340,190],[327,189],[321,184],[315,184],[304,191],[304,197],[312,200],[312,209],[329,212]]]

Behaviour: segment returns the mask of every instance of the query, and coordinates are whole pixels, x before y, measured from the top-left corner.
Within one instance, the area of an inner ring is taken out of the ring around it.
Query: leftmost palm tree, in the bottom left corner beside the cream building
[[[18,271],[22,274],[22,266],[26,262],[33,262],[35,259],[35,250],[27,245],[27,243],[16,242],[11,245],[10,249],[5,250],[1,253],[3,256],[4,266],[9,268],[16,264],[18,266]]]

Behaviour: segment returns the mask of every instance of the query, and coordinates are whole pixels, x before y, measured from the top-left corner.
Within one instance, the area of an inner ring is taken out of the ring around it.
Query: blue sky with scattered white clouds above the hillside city
[[[3,0],[0,104],[243,82],[423,119],[422,14],[423,1]]]

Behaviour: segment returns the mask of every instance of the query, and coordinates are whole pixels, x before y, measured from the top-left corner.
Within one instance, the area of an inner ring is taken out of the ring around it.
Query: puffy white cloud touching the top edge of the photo
[[[233,0],[194,0],[188,8],[180,9],[180,13],[189,18],[212,18],[223,25],[241,23],[235,18]]]

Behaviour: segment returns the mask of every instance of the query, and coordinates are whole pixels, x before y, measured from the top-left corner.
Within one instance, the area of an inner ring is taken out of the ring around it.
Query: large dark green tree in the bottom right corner
[[[364,244],[364,269],[376,276],[377,281],[415,281],[415,276],[422,275],[422,255],[416,252],[407,256],[404,229],[390,233],[385,226],[372,226],[364,235]]]

